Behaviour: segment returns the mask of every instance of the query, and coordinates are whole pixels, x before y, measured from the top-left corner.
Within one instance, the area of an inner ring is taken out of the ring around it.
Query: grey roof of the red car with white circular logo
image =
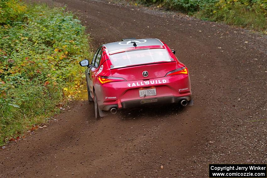
[[[137,45],[137,47],[141,46],[164,46],[161,40],[156,38],[147,38],[147,39],[138,39],[138,40],[126,40],[126,41],[117,41],[113,43],[106,43],[103,46],[106,47],[108,52],[116,51],[125,48],[132,48],[133,42]]]

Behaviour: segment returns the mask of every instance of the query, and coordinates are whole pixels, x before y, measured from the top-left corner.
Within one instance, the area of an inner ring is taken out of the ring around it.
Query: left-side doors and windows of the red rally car
[[[90,90],[91,91],[93,91],[94,80],[96,78],[95,75],[98,72],[101,57],[102,57],[102,50],[98,49],[95,53],[94,59],[92,61],[91,67],[90,67],[89,82],[90,82]],[[91,96],[93,97],[93,92],[92,92]]]

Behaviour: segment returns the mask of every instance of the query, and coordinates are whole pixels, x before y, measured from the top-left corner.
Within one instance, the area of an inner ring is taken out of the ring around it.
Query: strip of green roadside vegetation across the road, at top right
[[[178,10],[202,20],[224,22],[267,33],[267,0],[137,0]]]

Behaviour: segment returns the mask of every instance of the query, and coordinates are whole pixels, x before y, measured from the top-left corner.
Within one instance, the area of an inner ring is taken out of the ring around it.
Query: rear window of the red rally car
[[[110,55],[114,67],[171,61],[166,49],[126,51]]]

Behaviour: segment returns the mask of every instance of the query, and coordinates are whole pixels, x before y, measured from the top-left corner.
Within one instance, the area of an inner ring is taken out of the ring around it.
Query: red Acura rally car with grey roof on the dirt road
[[[187,67],[158,39],[128,38],[101,45],[86,67],[88,99],[95,117],[105,111],[179,103],[193,105]]]

